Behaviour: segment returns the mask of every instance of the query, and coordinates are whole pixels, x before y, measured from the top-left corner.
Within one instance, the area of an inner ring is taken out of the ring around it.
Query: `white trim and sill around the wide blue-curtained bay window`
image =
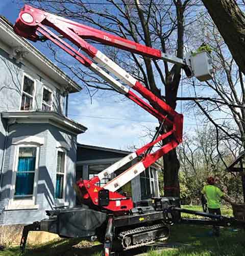
[[[34,174],[34,182],[33,182],[33,196],[32,198],[14,198],[15,193],[15,182],[16,182],[16,174],[18,168],[18,159],[19,159],[19,148],[21,147],[32,147],[36,148],[36,164],[35,164],[35,174]],[[21,210],[21,209],[37,209],[39,205],[36,204],[37,199],[37,184],[38,184],[38,167],[39,167],[39,156],[40,156],[40,146],[37,144],[18,144],[15,146],[15,155],[14,155],[14,163],[13,163],[13,173],[12,173],[12,183],[10,186],[10,200],[7,208],[5,210]]]

